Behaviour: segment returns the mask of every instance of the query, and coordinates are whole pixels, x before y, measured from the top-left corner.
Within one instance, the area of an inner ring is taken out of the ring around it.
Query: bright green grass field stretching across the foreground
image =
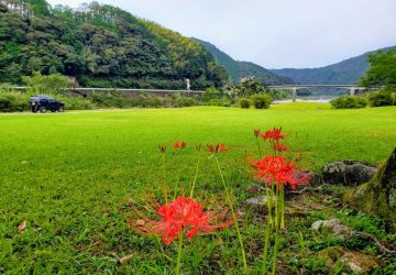
[[[187,142],[183,153],[167,158],[166,178],[174,189],[188,190],[196,162],[193,145],[224,143],[229,153],[220,162],[241,206],[252,183],[246,158],[256,157],[253,129],[273,127],[289,133],[288,145],[316,172],[338,160],[378,163],[396,145],[395,107],[333,110],[329,105],[294,103],[270,110],[195,107],[0,114],[0,273],[172,273],[177,244],[165,246],[157,238],[133,233],[124,201],[160,189],[158,144]],[[197,193],[221,197],[221,191],[215,163],[205,160]],[[18,233],[23,220],[28,227]],[[262,228],[249,215],[241,224],[255,274],[261,258],[252,248],[261,242]],[[129,253],[132,260],[120,265],[118,257]],[[238,255],[230,228],[188,243],[183,270],[239,274]]]

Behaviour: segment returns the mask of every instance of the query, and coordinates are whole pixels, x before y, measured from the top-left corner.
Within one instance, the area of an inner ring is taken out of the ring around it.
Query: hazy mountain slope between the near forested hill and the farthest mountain
[[[278,76],[271,70],[251,62],[234,61],[231,56],[217,48],[213,44],[193,37],[210,52],[216,62],[223,66],[231,76],[232,82],[238,82],[243,77],[253,76],[264,85],[293,84],[288,77]]]

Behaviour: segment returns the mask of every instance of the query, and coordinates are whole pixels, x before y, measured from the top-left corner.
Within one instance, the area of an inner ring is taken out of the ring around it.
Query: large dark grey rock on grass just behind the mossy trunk
[[[376,167],[355,161],[329,163],[322,169],[324,183],[351,186],[369,182],[376,172]]]

